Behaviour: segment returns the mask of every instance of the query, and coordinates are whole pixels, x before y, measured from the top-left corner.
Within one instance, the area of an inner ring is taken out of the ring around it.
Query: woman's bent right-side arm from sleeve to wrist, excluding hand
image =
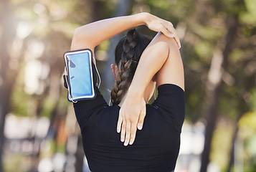
[[[161,33],[156,35],[141,55],[128,92],[131,95],[142,94],[154,75],[157,87],[174,84],[184,90],[184,68],[179,48],[174,39]]]

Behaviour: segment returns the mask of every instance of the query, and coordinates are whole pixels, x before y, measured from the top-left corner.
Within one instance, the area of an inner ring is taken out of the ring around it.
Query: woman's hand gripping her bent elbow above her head
[[[164,35],[166,35],[166,37],[173,37],[178,44],[178,47],[181,48],[181,42],[179,40],[176,29],[174,29],[174,24],[152,14],[143,14],[146,16],[144,21],[148,29],[151,29],[155,32],[162,32]]]

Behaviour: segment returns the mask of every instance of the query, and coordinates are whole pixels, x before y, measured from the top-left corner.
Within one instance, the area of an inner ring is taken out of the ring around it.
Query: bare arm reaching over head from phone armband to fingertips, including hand
[[[174,37],[180,47],[179,37],[171,22],[160,19],[148,13],[134,14],[131,16],[119,16],[111,19],[104,19],[98,22],[86,24],[75,29],[72,38],[71,50],[94,49],[98,44],[110,39],[120,32],[145,24],[155,32],[162,32],[166,37]]]

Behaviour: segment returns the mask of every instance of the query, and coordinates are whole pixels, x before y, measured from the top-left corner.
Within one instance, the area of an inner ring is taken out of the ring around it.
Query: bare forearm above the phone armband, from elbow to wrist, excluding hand
[[[126,29],[145,24],[146,19],[150,15],[148,13],[140,13],[131,16],[119,16],[78,27],[75,29],[71,49],[75,50],[85,47],[94,49],[101,42],[114,37]]]

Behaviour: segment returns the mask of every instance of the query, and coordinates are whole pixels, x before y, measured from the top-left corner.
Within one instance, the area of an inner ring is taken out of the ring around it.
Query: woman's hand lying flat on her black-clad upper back
[[[124,145],[132,145],[136,138],[136,131],[143,128],[143,121],[146,116],[146,102],[143,97],[125,97],[119,111],[117,132]]]

